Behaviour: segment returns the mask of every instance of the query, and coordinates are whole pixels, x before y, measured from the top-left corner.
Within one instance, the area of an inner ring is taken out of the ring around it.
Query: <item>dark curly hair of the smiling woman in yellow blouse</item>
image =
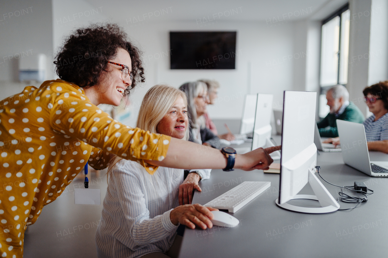
[[[117,24],[91,24],[78,28],[65,38],[55,56],[55,72],[64,81],[90,88],[100,83],[101,75],[108,72],[107,61],[116,56],[118,48],[123,48],[132,61],[132,84],[124,91],[124,96],[128,96],[136,82],[144,83],[145,77],[141,52],[127,38]]]

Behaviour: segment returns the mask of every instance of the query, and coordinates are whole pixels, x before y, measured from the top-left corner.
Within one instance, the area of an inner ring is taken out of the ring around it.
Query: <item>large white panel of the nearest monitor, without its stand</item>
[[[316,165],[314,144],[316,92],[284,91],[280,203],[291,200]]]

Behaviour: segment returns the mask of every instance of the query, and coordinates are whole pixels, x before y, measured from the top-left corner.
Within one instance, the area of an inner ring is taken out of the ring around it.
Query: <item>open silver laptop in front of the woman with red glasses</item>
[[[388,162],[369,160],[364,124],[336,120],[343,162],[372,177],[388,176]]]

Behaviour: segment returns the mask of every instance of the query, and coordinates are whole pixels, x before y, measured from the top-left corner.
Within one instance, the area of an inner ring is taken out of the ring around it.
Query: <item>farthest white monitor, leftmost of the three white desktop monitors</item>
[[[257,94],[245,95],[244,109],[242,110],[240,134],[253,132],[255,125]]]

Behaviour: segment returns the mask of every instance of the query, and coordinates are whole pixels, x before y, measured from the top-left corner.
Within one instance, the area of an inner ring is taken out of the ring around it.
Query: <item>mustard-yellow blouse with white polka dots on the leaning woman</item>
[[[82,88],[62,80],[0,101],[0,256],[21,257],[26,225],[54,201],[87,161],[104,169],[109,153],[142,163],[163,160],[170,136],[113,120]]]

